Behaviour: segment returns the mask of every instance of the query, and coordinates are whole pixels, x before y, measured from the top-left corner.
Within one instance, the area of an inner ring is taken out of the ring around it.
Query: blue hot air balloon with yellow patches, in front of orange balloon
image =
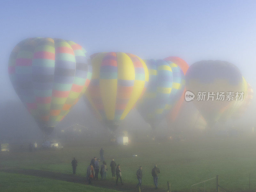
[[[171,61],[145,60],[149,71],[148,88],[137,105],[153,130],[180,99],[185,85],[182,70]]]

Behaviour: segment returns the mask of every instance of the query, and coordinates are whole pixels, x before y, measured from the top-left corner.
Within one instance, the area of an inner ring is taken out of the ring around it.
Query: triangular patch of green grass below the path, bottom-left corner
[[[78,183],[71,183],[67,181],[51,180],[47,178],[28,176],[15,173],[0,172],[0,191],[1,192],[117,192],[116,190],[98,188]]]

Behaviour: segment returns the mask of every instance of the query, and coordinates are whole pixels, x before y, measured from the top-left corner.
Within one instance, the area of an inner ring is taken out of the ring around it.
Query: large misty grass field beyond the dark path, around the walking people
[[[159,141],[158,141],[159,142]],[[192,184],[220,176],[220,186],[228,191],[256,191],[256,138],[197,139],[180,142],[132,143],[128,146],[102,144],[109,166],[112,158],[121,165],[124,183],[137,183],[136,170],[143,168],[142,185],[152,186],[151,169],[158,164],[159,187],[166,188],[171,182],[172,191],[189,191]],[[0,157],[1,168],[38,169],[51,172],[72,173],[71,160],[78,160],[77,174],[85,171],[93,156],[99,156],[101,145],[65,146],[64,150],[38,150],[32,153],[9,152]],[[137,157],[132,157],[137,154]],[[107,173],[111,180],[111,173]],[[44,181],[46,182],[46,180]],[[110,181],[109,181],[110,182]],[[78,184],[75,184],[78,185]]]

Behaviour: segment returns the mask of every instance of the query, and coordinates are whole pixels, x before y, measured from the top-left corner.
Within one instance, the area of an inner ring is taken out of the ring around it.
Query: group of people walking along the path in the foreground
[[[102,162],[102,165],[100,166],[100,161]],[[73,174],[76,174],[76,167],[77,167],[77,160],[74,157],[74,159],[71,162],[72,167],[73,167]],[[118,180],[120,179],[121,185],[124,185],[122,181],[122,172],[120,168],[120,164],[116,165],[116,162],[114,159],[110,162],[110,167],[111,167],[111,173],[112,173],[112,179],[113,181],[116,180],[116,185],[118,185]],[[104,160],[104,150],[103,148],[100,149],[100,159],[97,157],[93,157],[91,160],[90,165],[87,167],[86,171],[86,178],[88,181],[88,184],[92,184],[92,180],[99,180],[98,176],[100,173],[101,180],[106,180],[107,178],[107,171],[108,171],[108,166],[107,163]],[[154,168],[152,169],[152,176],[154,180],[154,184],[156,186],[156,189],[158,188],[158,174],[160,173],[159,168],[157,165],[154,165]],[[139,167],[139,169],[136,172],[137,179],[139,183],[137,184],[136,187],[141,187],[141,182],[142,182],[142,166]]]

